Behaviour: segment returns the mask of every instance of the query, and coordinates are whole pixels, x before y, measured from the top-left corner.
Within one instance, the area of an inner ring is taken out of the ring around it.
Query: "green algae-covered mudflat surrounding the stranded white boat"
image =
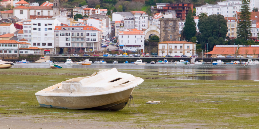
[[[165,76],[159,74],[166,72],[152,72],[152,70],[121,71],[145,79],[132,93],[135,108],[140,114],[133,108],[130,108],[133,110],[133,113],[130,113],[127,106],[120,111],[64,110],[39,106],[34,96],[37,91],[74,77],[89,76],[94,71],[98,69],[0,69],[0,118],[11,119],[15,116],[24,121],[37,119],[35,122],[33,120],[33,124],[43,123],[44,118],[70,122],[80,120],[97,125],[105,123],[101,126],[117,128],[258,128],[259,126],[258,81],[161,79]],[[185,72],[168,76],[204,75]],[[206,74],[206,76],[215,75]],[[146,104],[150,100],[160,100],[161,104]],[[115,123],[117,126],[114,126]],[[118,123],[123,126],[118,126]],[[0,126],[1,124],[3,123],[0,122]]]

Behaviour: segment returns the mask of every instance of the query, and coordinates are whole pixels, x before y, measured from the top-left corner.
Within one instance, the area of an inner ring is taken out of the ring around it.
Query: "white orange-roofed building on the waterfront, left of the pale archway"
[[[137,29],[119,31],[120,50],[144,51],[145,32]]]

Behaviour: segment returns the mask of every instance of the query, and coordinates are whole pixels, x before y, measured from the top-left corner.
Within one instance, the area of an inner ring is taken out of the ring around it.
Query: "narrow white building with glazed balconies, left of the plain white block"
[[[23,21],[23,29],[19,30],[17,34],[18,41],[24,38],[31,43],[31,30],[31,20]]]

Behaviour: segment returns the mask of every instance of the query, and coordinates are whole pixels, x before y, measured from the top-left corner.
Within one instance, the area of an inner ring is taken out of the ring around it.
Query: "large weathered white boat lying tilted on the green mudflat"
[[[50,86],[35,96],[41,107],[121,110],[134,88],[143,81],[116,68],[105,69]]]

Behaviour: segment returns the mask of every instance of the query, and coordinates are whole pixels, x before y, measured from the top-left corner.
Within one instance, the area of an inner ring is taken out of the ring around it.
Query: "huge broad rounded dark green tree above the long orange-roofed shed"
[[[203,17],[199,19],[198,28],[201,34],[198,35],[197,39],[202,48],[205,48],[205,43],[208,43],[208,49],[212,49],[214,45],[225,44],[227,21],[224,16],[212,14],[208,17]]]

